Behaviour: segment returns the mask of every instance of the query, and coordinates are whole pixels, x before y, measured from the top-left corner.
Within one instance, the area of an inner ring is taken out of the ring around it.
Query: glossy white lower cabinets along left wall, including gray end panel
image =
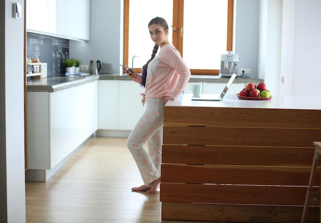
[[[47,171],[61,165],[95,133],[97,82],[56,92],[27,92],[26,180],[47,181],[53,174]]]

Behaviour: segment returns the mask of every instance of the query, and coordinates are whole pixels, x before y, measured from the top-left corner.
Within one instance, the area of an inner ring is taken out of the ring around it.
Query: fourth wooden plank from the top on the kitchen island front
[[[306,186],[310,171],[309,167],[164,164],[162,183]],[[320,168],[317,173],[314,186],[320,186]]]

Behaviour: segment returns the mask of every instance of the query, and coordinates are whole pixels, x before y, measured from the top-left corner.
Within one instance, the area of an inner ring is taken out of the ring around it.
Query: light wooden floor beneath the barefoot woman
[[[161,220],[159,190],[131,192],[143,182],[126,140],[94,137],[46,183],[26,182],[27,222],[177,222]]]

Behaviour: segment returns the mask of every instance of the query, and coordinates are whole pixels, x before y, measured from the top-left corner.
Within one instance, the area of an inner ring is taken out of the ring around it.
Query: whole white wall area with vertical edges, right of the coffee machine
[[[319,93],[321,1],[261,0],[259,76],[274,95]]]

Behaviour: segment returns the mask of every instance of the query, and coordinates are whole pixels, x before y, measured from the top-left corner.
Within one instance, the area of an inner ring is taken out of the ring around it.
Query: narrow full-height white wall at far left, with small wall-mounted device
[[[12,3],[0,2],[0,219],[9,223],[26,222],[24,18]]]

